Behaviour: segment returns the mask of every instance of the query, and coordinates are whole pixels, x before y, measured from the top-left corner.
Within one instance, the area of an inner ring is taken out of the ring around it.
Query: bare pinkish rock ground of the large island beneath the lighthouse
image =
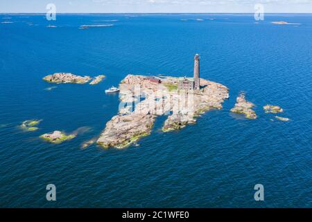
[[[161,83],[153,83],[148,76],[126,76],[119,85],[119,114],[107,122],[97,144],[104,148],[134,144],[150,135],[155,118],[160,115],[168,115],[164,132],[184,128],[196,123],[200,114],[222,108],[223,101],[229,98],[229,89],[219,83],[201,78],[200,90],[185,92],[177,89],[178,80],[163,76]]]

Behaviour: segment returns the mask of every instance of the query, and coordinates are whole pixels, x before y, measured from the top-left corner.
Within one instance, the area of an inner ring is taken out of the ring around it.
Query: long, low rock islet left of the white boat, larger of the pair
[[[71,73],[55,73],[43,78],[49,83],[88,83],[92,78],[90,76],[76,76]]]

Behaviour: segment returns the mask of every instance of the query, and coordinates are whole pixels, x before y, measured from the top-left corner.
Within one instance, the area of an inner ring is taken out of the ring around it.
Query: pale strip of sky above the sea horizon
[[[48,3],[54,3],[58,13],[253,13],[257,3],[261,3],[267,13],[312,13],[312,0],[0,0],[0,13],[47,12]]]

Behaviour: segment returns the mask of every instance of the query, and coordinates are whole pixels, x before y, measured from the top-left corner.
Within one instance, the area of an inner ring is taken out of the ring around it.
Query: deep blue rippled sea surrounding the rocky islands
[[[248,14],[0,15],[0,207],[312,207],[312,15],[255,22]],[[191,76],[195,53],[201,77],[229,87],[222,110],[173,133],[162,133],[159,117],[140,146],[80,148],[118,111],[118,95],[105,89],[130,73]],[[107,78],[42,80],[54,72]],[[258,119],[229,112],[241,91]],[[268,103],[291,121],[264,113]],[[20,130],[26,119],[42,119],[40,130]],[[89,130],[62,144],[39,138],[81,127]],[[254,200],[256,184],[264,201]]]

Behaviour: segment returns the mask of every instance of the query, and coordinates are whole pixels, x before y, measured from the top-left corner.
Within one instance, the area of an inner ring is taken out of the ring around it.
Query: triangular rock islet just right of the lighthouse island
[[[245,114],[247,119],[257,119],[256,112],[252,110],[253,107],[254,103],[246,101],[245,94],[241,93],[236,99],[234,108],[232,108],[230,111]]]

